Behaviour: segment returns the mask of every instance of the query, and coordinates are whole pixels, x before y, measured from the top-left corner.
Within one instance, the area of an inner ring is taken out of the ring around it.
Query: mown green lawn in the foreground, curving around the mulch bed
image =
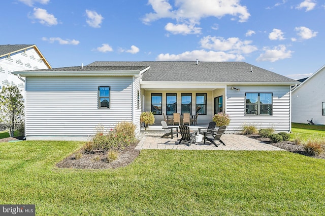
[[[325,160],[286,151],[143,150],[119,169],[60,169],[79,142],[0,143],[0,203],[37,215],[323,215]]]

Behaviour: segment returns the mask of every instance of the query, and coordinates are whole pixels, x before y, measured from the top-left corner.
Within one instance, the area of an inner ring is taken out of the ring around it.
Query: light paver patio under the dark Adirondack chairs
[[[136,149],[179,149],[179,150],[247,150],[247,151],[281,151],[278,147],[254,140],[238,134],[224,134],[221,140],[225,146],[218,142],[218,147],[210,142],[197,142],[191,146],[183,143],[179,144],[180,136],[161,138],[164,133],[145,133],[141,141],[136,146]]]

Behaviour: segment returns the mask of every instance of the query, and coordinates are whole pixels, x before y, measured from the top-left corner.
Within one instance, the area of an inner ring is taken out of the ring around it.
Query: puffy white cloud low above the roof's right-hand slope
[[[275,62],[281,59],[291,58],[293,51],[286,50],[284,45],[279,45],[273,49],[264,48],[264,53],[259,55],[256,61],[270,61]]]

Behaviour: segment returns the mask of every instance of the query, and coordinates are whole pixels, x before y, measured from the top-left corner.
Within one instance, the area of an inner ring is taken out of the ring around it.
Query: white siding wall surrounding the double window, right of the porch
[[[231,122],[227,132],[240,133],[243,125],[254,125],[259,128],[272,127],[275,131],[290,131],[290,87],[285,86],[264,86],[264,85],[236,85],[240,91],[227,88],[226,113],[230,115]],[[268,115],[247,115],[245,116],[245,93],[272,93],[272,116]]]

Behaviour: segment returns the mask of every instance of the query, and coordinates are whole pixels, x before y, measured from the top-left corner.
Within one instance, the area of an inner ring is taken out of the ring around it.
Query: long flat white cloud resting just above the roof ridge
[[[205,51],[205,50],[193,50],[184,52],[181,54],[159,54],[156,58],[156,61],[195,61],[199,59],[200,61],[242,61],[244,59],[241,55],[228,54],[224,52],[215,52],[215,51]]]

